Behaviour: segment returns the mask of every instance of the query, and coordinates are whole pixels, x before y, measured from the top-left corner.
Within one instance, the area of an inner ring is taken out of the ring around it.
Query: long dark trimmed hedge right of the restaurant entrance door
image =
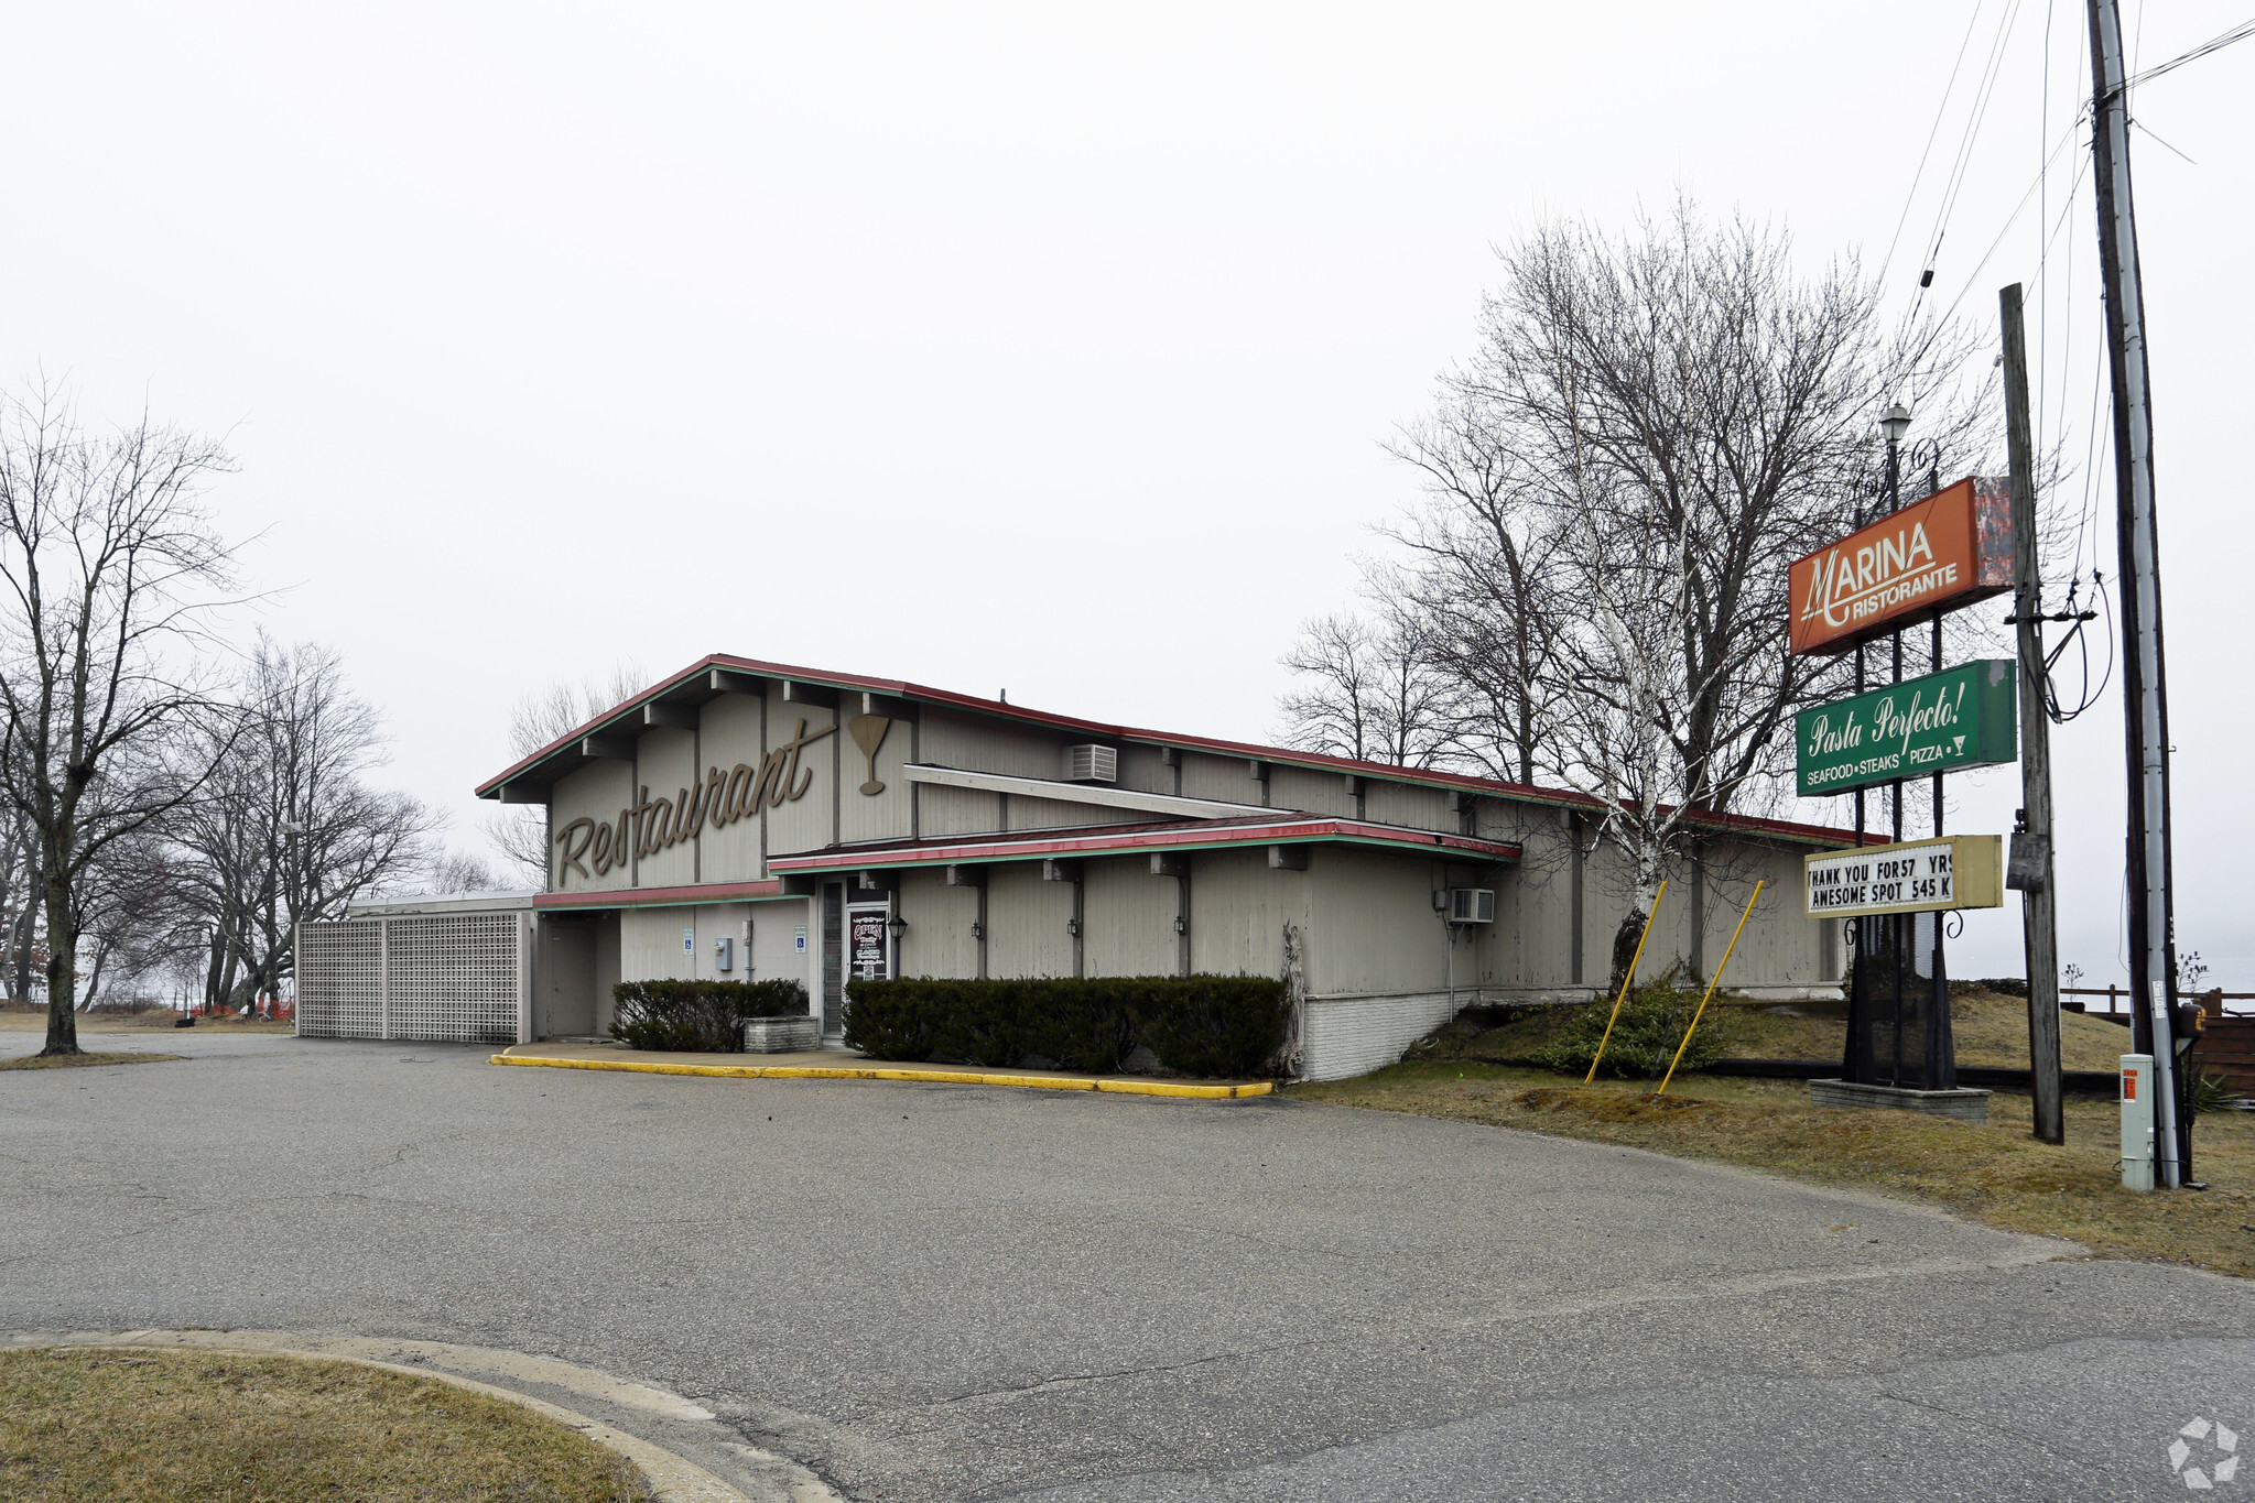
[[[1285,1034],[1265,976],[852,980],[846,1043],[873,1059],[961,1059],[1118,1073],[1134,1048],[1182,1075],[1261,1075]]]

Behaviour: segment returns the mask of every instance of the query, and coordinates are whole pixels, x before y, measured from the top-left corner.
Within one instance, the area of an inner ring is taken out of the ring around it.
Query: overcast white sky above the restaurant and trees
[[[1689,189],[1876,268],[1908,201],[1908,297],[2009,2],[16,5],[0,379],[230,433],[214,500],[264,532],[264,624],[343,649],[469,850],[510,701],[620,658],[1270,739],[1276,656],[1414,496],[1378,442],[1468,352],[1493,246]],[[2147,65],[2244,20],[2151,11]],[[1982,327],[2039,273],[2039,205],[2007,219],[2088,92],[2084,34],[2018,0],[1998,52],[1930,293]],[[2178,926],[2235,989],[2250,83],[2255,43],[2135,99]],[[2072,453],[2084,160],[2045,201]],[[2115,703],[2054,732],[2061,953],[2093,980],[2120,971]],[[1955,829],[2002,831],[2018,775],[1953,795]],[[2016,897],[1953,969],[2018,973]]]

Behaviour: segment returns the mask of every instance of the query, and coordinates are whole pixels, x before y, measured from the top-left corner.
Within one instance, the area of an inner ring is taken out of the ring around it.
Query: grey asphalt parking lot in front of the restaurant
[[[2255,1287],[1874,1197],[1290,1100],[178,1039],[0,1075],[0,1327],[552,1354],[886,1501],[2145,1498],[2196,1415],[2255,1449]]]

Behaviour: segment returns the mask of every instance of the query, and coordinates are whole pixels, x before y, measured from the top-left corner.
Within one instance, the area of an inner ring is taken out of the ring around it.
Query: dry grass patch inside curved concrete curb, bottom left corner
[[[505,1399],[338,1361],[0,1352],[11,1503],[645,1503],[643,1474]]]

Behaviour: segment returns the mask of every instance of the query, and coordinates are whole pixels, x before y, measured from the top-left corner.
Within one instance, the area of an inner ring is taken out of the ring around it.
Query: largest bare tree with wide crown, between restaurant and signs
[[[1590,793],[1626,856],[1615,982],[1696,813],[1779,795],[1790,714],[1840,660],[1790,658],[1786,566],[1847,532],[1874,417],[1921,408],[1964,469],[1964,338],[1883,327],[1854,261],[1691,205],[1633,234],[1551,223],[1502,255],[1479,349],[1391,451],[1425,507],[1391,530],[1403,608],[1454,683],[1463,755]]]

